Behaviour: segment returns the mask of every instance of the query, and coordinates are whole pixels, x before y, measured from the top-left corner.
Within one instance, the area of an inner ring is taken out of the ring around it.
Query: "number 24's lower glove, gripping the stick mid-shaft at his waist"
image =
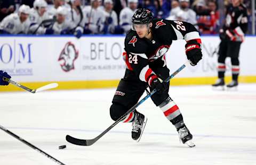
[[[148,78],[148,85],[157,90],[158,94],[163,93],[164,91],[168,90],[168,86],[166,82],[163,82],[159,79],[155,74],[151,74]]]

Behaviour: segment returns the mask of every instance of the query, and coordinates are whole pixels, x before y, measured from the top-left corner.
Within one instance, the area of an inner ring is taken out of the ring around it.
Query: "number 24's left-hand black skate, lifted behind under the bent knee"
[[[132,123],[132,138],[133,140],[139,142],[141,135],[143,133],[143,130],[147,123],[147,117],[145,117],[143,114],[140,114],[139,112],[136,112],[135,119]]]

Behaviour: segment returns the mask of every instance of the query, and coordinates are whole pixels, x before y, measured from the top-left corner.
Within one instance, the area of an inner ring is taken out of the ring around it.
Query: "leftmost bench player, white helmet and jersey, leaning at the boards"
[[[30,7],[21,5],[18,13],[6,16],[0,24],[0,33],[27,34],[30,21]]]

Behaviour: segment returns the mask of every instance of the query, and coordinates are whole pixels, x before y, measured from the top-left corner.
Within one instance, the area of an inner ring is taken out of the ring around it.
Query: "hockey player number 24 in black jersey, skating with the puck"
[[[165,53],[169,50],[172,40],[185,39],[187,58],[191,65],[196,65],[202,59],[201,39],[196,28],[187,22],[153,19],[150,10],[139,8],[132,17],[132,30],[125,38],[123,58],[126,63],[124,78],[121,79],[110,107],[110,116],[117,120],[129,110],[149,86],[157,89],[151,99],[159,107],[165,117],[177,128],[182,143],[195,146],[191,141],[193,136],[183,122],[179,107],[169,97],[169,83],[164,83],[169,77],[169,69],[165,62]],[[147,118],[133,111],[123,120],[132,122],[132,138],[140,140]]]

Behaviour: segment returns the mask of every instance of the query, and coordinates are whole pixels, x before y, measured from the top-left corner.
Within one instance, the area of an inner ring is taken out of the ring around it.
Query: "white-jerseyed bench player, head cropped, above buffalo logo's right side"
[[[66,16],[66,19],[76,25],[82,25],[84,15],[82,11],[81,0],[66,0],[66,2],[67,5],[65,6],[68,8],[68,14]]]

